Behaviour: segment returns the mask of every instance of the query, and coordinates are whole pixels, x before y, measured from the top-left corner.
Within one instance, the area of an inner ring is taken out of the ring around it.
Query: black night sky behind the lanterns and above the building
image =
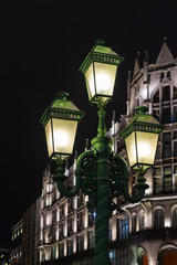
[[[81,152],[97,126],[96,107],[88,104],[77,71],[94,41],[105,39],[125,59],[107,106],[108,128],[114,109],[117,119],[126,112],[127,71],[136,53],[148,50],[155,62],[167,36],[177,56],[176,13],[176,0],[1,1],[0,247],[10,247],[11,227],[41,195],[48,153],[39,119],[54,93],[66,91],[86,112],[75,141]]]

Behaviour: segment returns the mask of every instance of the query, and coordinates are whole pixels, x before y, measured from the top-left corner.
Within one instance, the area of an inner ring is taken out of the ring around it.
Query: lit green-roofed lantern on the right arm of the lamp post
[[[136,108],[136,114],[131,123],[119,132],[125,139],[131,168],[148,168],[154,165],[158,135],[163,126],[146,114],[147,107]]]

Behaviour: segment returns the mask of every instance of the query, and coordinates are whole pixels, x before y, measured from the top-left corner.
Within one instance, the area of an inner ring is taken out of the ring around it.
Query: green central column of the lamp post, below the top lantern
[[[93,265],[111,265],[108,256],[110,156],[112,140],[105,136],[105,110],[98,110],[98,136],[92,140],[97,155],[95,255]]]

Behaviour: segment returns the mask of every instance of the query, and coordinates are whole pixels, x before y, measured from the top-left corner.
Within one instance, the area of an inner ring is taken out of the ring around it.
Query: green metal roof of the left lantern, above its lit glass
[[[54,100],[45,109],[40,119],[40,123],[43,125],[43,127],[45,127],[51,117],[77,121],[81,120],[81,118],[84,116],[84,112],[80,110],[73,102],[67,99],[67,97],[69,94],[66,92],[55,93]]]

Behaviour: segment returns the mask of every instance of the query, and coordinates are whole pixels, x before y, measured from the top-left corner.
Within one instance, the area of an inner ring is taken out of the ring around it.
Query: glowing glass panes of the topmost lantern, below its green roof
[[[117,65],[94,62],[85,73],[88,98],[103,96],[103,100],[112,97],[116,77]]]

